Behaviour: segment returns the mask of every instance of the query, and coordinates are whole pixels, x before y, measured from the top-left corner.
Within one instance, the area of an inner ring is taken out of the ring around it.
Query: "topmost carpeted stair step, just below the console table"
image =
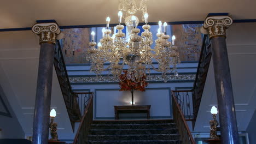
[[[114,120],[114,121],[93,121],[92,124],[154,124],[154,123],[175,123],[173,119],[160,120]]]

